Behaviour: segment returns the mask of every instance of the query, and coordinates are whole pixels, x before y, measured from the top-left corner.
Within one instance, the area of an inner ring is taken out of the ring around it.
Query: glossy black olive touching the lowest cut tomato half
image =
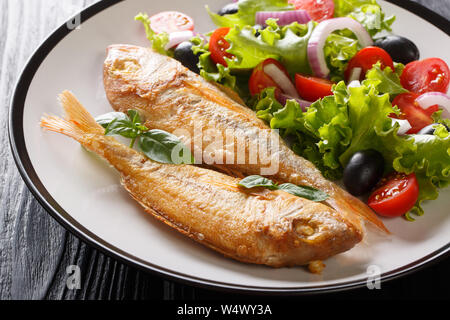
[[[344,169],[344,185],[354,196],[368,193],[380,181],[384,159],[378,151],[369,149],[355,152]]]

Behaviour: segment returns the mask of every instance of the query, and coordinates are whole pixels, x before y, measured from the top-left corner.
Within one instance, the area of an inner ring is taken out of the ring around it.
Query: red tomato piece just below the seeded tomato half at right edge
[[[426,110],[422,109],[416,102],[418,97],[418,94],[408,92],[399,94],[392,101],[392,105],[397,106],[402,112],[398,118],[408,120],[412,127],[407,134],[417,133],[420,129],[432,124],[434,121],[431,115],[439,110],[438,105],[431,106]]]

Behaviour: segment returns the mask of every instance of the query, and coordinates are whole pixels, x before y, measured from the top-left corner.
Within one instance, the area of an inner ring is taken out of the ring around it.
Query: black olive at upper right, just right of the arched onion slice
[[[405,37],[389,35],[385,38],[378,39],[375,42],[375,46],[386,50],[395,62],[408,64],[420,58],[420,52],[417,46]]]

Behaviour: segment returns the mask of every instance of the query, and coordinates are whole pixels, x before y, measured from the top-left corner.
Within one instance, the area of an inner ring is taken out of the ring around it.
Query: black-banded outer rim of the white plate
[[[150,272],[154,275],[163,276],[166,279],[181,282],[183,284],[193,285],[205,289],[262,295],[300,295],[329,293],[364,287],[367,283],[365,279],[350,280],[337,284],[301,287],[273,288],[264,286],[236,285],[210,279],[202,279],[192,275],[183,274],[181,272],[172,271],[162,266],[154,265],[148,261],[144,261],[109,244],[107,241],[101,239],[91,231],[87,230],[83,225],[73,219],[71,215],[66,212],[56,202],[55,199],[53,199],[53,197],[47,191],[43,183],[40,181],[37,173],[35,172],[25,145],[23,132],[23,111],[29,87],[34,79],[36,72],[39,70],[42,62],[45,60],[47,55],[59,44],[59,42],[61,42],[69,33],[73,31],[73,29],[71,30],[67,27],[70,21],[73,21],[75,17],[80,16],[80,21],[81,23],[83,23],[96,14],[102,12],[103,10],[106,10],[113,5],[124,1],[126,0],[99,0],[82,9],[77,14],[73,15],[61,26],[51,32],[50,35],[38,46],[38,48],[28,59],[15,84],[8,110],[9,143],[19,173],[36,200],[38,200],[42,207],[44,207],[44,209],[66,230],[68,230],[76,237],[80,238],[88,245],[98,249],[105,255],[117,259],[129,266],[137,267],[140,270]],[[412,2],[411,0],[385,1],[397,5],[413,13],[414,15],[423,18],[428,23],[434,25],[450,36],[450,21],[440,16],[436,12],[424,7],[419,3]],[[386,282],[408,275],[412,272],[416,272],[425,266],[429,266],[432,263],[437,263],[446,256],[449,256],[449,253],[450,243],[422,257],[421,259],[418,259],[414,262],[411,262],[389,272],[382,273],[380,275],[380,281]]]

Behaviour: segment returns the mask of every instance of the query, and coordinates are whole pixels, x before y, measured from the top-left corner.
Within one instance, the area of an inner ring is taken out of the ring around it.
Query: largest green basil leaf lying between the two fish
[[[192,164],[194,158],[180,139],[163,130],[150,130],[142,133],[139,148],[150,159],[171,164]]]

